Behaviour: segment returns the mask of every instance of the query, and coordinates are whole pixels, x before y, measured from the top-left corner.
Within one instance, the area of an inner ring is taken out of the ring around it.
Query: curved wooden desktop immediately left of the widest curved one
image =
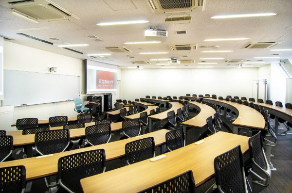
[[[202,104],[202,103],[199,103],[199,102],[191,101],[191,102],[188,102],[188,104],[193,104],[193,105],[199,107],[200,113],[197,114],[195,117],[193,117],[187,121],[184,121],[182,123],[183,125],[196,127],[196,128],[202,128],[207,124],[206,119],[209,116],[213,117],[213,115],[216,113],[216,111],[212,107],[205,105],[205,104]]]

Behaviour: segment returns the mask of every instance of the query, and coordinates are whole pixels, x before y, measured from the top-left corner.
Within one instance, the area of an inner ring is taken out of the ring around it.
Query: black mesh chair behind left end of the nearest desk
[[[58,160],[58,182],[70,193],[82,193],[80,179],[105,172],[104,149],[75,153]]]

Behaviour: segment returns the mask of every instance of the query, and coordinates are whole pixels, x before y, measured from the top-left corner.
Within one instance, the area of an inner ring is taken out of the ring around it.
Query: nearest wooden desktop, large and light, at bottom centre
[[[140,161],[109,172],[80,180],[84,193],[137,193],[188,170],[193,171],[196,186],[214,177],[216,156],[241,145],[248,150],[248,137],[219,131],[203,139],[200,145],[190,144],[165,153],[166,158]],[[113,183],[114,182],[114,183]]]

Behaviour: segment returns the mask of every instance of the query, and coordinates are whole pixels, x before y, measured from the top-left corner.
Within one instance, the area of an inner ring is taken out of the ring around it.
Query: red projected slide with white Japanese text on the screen
[[[114,72],[96,70],[96,89],[114,89]]]

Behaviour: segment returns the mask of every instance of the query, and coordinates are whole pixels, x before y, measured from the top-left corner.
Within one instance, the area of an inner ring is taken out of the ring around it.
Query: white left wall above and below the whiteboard
[[[82,76],[82,60],[8,41],[4,41],[3,59],[4,69],[47,73],[48,67],[55,66],[58,68],[56,74]],[[81,77],[82,84],[83,78]],[[74,106],[73,101],[67,101],[15,107],[14,121],[26,117],[47,119],[50,116],[62,114],[69,117],[76,116],[77,113],[73,111]]]

